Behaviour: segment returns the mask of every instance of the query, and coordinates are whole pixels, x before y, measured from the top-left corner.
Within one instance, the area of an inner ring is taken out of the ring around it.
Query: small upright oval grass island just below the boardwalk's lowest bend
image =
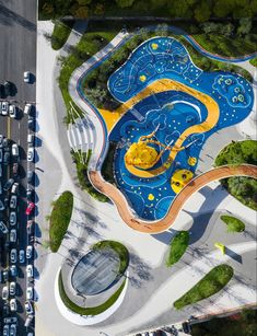
[[[187,250],[188,243],[189,243],[188,231],[180,231],[174,236],[174,239],[171,241],[170,253],[166,259],[167,267],[171,267],[180,259],[180,257],[184,255],[184,253]]]

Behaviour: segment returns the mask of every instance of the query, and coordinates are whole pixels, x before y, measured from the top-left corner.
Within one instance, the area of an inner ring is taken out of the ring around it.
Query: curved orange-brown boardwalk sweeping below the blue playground
[[[163,219],[156,221],[145,221],[135,216],[121,192],[119,192],[113,184],[104,181],[100,171],[89,172],[89,177],[93,186],[113,200],[124,222],[131,229],[144,233],[160,233],[165,231],[174,223],[182,207],[194,193],[208,185],[210,182],[231,176],[248,176],[257,178],[257,166],[250,164],[242,164],[237,166],[223,165],[210,170],[191,179],[182,189],[171,205],[167,215]]]

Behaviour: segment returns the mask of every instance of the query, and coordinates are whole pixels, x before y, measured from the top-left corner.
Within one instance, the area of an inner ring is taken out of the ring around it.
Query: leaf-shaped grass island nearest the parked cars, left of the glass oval
[[[70,223],[73,209],[73,195],[65,192],[52,202],[50,215],[50,250],[57,252]]]

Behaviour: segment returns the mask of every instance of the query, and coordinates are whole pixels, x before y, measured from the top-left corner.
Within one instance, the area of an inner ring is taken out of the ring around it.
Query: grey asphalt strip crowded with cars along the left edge
[[[15,335],[11,325],[16,325],[16,335],[34,335],[34,320],[30,327],[24,327],[24,323],[27,315],[34,314],[26,313],[25,301],[31,298],[33,305],[35,298],[37,209],[32,209],[31,215],[26,212],[33,208],[30,202],[37,202],[34,192],[37,183],[34,167],[38,160],[34,149],[37,143],[36,1],[0,0],[0,335]],[[25,71],[30,71],[28,82],[24,79]],[[27,265],[32,266],[26,269]]]

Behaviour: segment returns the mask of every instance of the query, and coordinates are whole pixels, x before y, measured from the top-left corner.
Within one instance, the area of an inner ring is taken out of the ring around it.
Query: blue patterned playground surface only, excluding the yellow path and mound
[[[189,165],[189,157],[198,159],[208,137],[242,121],[253,107],[253,89],[244,78],[229,72],[202,71],[192,63],[186,48],[171,37],[151,38],[140,45],[126,63],[110,76],[108,86],[116,100],[126,102],[159,79],[172,79],[209,94],[219,104],[220,118],[211,130],[190,135],[183,146],[192,144],[177,153],[165,173],[152,178],[137,177],[127,171],[124,158],[129,146],[156,128],[154,140],[163,144],[175,143],[188,127],[205,121],[206,106],[185,92],[152,92],[116,124],[109,135],[110,141],[118,141],[115,178],[131,208],[148,220],[161,219],[167,212],[176,196],[171,187],[174,172],[186,169],[195,173],[197,164]],[[157,144],[152,146],[160,151]],[[166,151],[154,167],[162,165],[168,153]],[[149,200],[150,194],[153,200]]]

